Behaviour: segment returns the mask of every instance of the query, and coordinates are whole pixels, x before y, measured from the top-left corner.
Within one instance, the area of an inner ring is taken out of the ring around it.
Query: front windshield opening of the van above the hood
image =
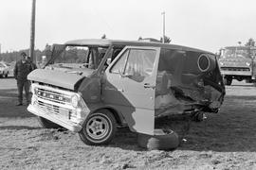
[[[100,46],[66,46],[53,56],[48,66],[62,68],[98,69],[108,47]]]

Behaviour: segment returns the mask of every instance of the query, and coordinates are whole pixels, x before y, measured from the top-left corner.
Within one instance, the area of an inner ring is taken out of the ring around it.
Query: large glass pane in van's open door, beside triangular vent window
[[[131,49],[123,74],[137,82],[143,81],[152,75],[155,55],[155,50]]]

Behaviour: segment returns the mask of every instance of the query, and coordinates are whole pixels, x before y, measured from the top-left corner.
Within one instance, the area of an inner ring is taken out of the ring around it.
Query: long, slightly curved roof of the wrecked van
[[[142,42],[142,41],[122,41],[122,40],[109,40],[109,39],[82,39],[65,42],[66,45],[95,45],[95,46],[109,46],[109,45],[119,45],[119,46],[155,46],[162,47],[167,49],[178,49],[185,51],[197,51],[203,53],[210,53],[208,51],[191,48],[182,45],[170,44],[170,43],[161,43],[161,42]]]

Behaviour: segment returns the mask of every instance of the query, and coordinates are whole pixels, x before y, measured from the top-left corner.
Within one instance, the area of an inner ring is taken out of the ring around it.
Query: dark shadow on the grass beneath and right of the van
[[[239,106],[238,106],[239,107]],[[216,151],[216,152],[255,152],[256,151],[256,116],[248,111],[220,112],[208,114],[204,122],[187,121],[163,117],[156,120],[155,127],[173,129],[180,137],[186,139],[178,150]],[[240,109],[241,111],[243,108]],[[188,128],[188,124],[190,128]],[[187,131],[186,131],[187,130]],[[137,145],[137,133],[129,128],[120,128],[116,137],[102,147],[119,147],[124,150],[146,151]]]

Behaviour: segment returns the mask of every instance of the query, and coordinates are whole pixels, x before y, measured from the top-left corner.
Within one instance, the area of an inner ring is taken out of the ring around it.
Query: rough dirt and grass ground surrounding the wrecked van
[[[227,87],[220,112],[192,122],[187,142],[173,151],[140,148],[137,134],[126,129],[109,145],[82,144],[73,132],[41,128],[25,106],[15,106],[16,93],[13,78],[0,78],[0,169],[256,169],[252,84]]]

